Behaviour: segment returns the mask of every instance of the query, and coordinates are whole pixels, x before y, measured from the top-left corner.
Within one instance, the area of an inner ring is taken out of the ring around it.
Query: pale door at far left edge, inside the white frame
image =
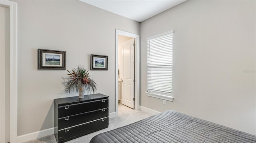
[[[0,6],[0,143],[10,142],[10,9]]]

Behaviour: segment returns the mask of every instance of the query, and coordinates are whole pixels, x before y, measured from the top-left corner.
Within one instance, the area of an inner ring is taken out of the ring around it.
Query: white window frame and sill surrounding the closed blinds
[[[173,33],[174,31],[168,31],[168,32],[165,32],[165,33],[161,33],[161,34],[158,34],[158,35],[154,35],[154,36],[151,36],[151,37],[148,37],[146,38],[146,40],[150,40],[150,39],[154,39],[154,38],[158,38],[158,37],[162,37],[164,35],[172,35],[173,36]],[[173,45],[173,44],[172,44]],[[147,51],[148,51],[148,43],[147,43]],[[148,57],[147,57],[148,59]],[[173,59],[173,57],[172,57]],[[173,64],[172,64],[172,67],[173,67]],[[147,60],[147,69],[148,69],[148,60]],[[148,78],[148,71],[147,71],[147,78]],[[173,81],[173,78],[172,78],[172,81]],[[172,87],[173,89],[173,87]],[[150,91],[148,90],[148,80],[147,80],[147,92],[146,92],[146,96],[150,96],[150,97],[154,97],[154,98],[160,98],[160,99],[163,99],[163,100],[168,100],[168,101],[173,101],[173,93],[166,93],[166,92],[160,92],[160,91]]]

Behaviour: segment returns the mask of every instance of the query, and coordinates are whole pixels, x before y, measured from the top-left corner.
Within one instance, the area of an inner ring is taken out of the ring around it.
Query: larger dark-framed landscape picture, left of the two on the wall
[[[38,69],[65,70],[66,51],[38,49]]]

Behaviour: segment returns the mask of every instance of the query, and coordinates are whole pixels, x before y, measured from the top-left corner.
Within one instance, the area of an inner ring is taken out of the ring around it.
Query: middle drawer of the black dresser
[[[58,119],[58,128],[60,130],[104,117],[108,117],[108,108],[60,118]]]

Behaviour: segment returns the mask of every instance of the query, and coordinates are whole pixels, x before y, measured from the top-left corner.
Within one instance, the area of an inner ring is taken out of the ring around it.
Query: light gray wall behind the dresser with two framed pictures
[[[98,93],[115,112],[115,29],[139,34],[140,24],[80,1],[18,3],[18,135],[54,127],[54,98],[61,94],[65,70],[38,71],[37,49],[66,51],[66,69],[85,65],[90,54],[108,55],[108,71],[89,71]]]

